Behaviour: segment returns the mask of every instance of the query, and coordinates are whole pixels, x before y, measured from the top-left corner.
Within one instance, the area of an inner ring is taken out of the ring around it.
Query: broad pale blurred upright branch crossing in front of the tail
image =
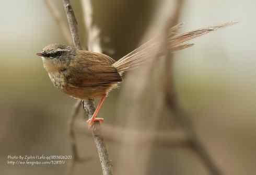
[[[150,25],[142,41],[145,41],[152,33],[155,33],[156,29],[157,31],[165,30],[165,17],[170,16],[170,13],[172,14],[172,10],[167,8],[170,6],[174,8],[172,1],[164,1],[159,6],[155,13],[156,16],[150,21]],[[162,20],[163,18],[164,20]],[[164,37],[164,34],[161,32],[160,35],[147,41],[128,54],[131,57],[143,57],[146,55],[145,59],[151,61],[137,68],[134,72],[127,73],[125,81],[122,84],[124,86],[122,89],[122,98],[125,99],[123,101],[125,101],[126,105],[121,110],[119,109],[119,114],[122,115],[122,118],[126,118],[126,128],[157,133],[157,124],[165,106],[164,93],[162,93],[163,76],[161,76],[162,71],[160,69],[162,65],[159,62],[161,60],[160,57],[164,55],[160,54],[165,48]],[[155,134],[154,138],[156,136]],[[118,165],[116,166],[117,174],[148,174],[150,171],[149,164],[152,160],[152,150],[155,146],[154,138],[144,144],[146,146],[142,149],[138,146],[139,142],[142,141],[141,135],[137,133],[133,135],[125,133],[121,139],[122,149],[120,151]],[[129,145],[130,142],[133,143],[132,146]],[[129,172],[124,171],[127,166],[129,167]]]

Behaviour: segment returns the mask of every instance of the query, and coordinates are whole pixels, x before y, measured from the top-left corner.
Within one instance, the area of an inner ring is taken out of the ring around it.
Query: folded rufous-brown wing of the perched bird
[[[68,83],[77,87],[109,86],[122,81],[111,57],[90,51],[77,51],[77,57],[69,64]],[[81,59],[82,58],[82,59]]]

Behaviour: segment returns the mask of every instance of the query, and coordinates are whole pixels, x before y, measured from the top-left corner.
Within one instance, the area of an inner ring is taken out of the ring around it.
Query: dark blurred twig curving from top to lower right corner
[[[178,5],[176,8],[176,13],[172,19],[169,19],[169,26],[166,28],[166,33],[168,33],[168,28],[171,26],[174,26],[177,24],[179,19],[179,14],[182,8],[182,4],[184,3],[183,0],[177,1]],[[167,43],[168,41],[166,41]],[[171,109],[173,116],[175,119],[181,124],[183,127],[184,132],[187,134],[189,138],[189,146],[196,151],[197,155],[200,156],[201,160],[203,161],[205,167],[210,171],[213,175],[220,175],[222,172],[219,170],[219,168],[216,166],[215,162],[212,160],[211,156],[208,154],[207,150],[205,149],[205,146],[202,144],[200,139],[197,137],[197,134],[195,133],[195,130],[193,128],[192,121],[190,120],[190,117],[187,113],[183,111],[179,107],[179,103],[176,98],[176,91],[174,90],[174,81],[173,81],[173,73],[172,68],[170,66],[172,65],[172,57],[173,55],[168,51],[168,48],[166,47],[167,51],[167,57],[166,57],[166,103],[168,107]]]

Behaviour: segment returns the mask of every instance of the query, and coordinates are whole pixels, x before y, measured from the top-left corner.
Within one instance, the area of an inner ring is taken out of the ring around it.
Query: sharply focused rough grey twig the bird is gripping
[[[76,49],[82,50],[82,47],[79,41],[79,36],[78,36],[77,21],[76,21],[71,3],[69,2],[69,0],[63,0],[63,5],[66,11],[67,21],[68,21],[69,29],[71,30],[71,35],[72,35],[74,45]],[[87,112],[88,118],[91,118],[92,114],[95,111],[94,100],[84,100],[83,107]],[[106,145],[104,144],[103,137],[101,136],[99,122],[95,122],[91,132],[98,150],[102,172],[104,175],[111,175],[112,165],[111,165],[111,161],[109,160],[108,151],[107,151]]]

